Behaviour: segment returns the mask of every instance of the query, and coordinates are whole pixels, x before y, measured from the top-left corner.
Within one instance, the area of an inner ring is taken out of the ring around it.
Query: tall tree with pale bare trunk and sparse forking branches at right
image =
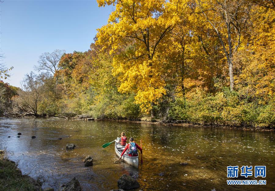
[[[249,3],[246,0],[195,1],[206,21],[217,34],[229,68],[230,90],[234,90],[233,54],[237,52],[241,43],[241,34],[248,19]]]

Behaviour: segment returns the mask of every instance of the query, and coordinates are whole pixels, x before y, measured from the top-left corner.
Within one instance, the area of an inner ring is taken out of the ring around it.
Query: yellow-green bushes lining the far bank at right
[[[225,88],[216,94],[196,91],[188,94],[188,98],[176,97],[171,103],[169,117],[172,120],[189,120],[192,123],[209,125],[228,125],[237,127],[274,128],[275,99],[269,104],[261,105],[261,101],[248,102],[237,92]]]

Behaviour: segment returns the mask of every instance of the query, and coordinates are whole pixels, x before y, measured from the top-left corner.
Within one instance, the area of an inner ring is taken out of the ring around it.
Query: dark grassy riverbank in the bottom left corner
[[[3,151],[0,154],[0,190],[1,191],[42,191],[42,181],[22,174],[17,163],[9,160]]]

